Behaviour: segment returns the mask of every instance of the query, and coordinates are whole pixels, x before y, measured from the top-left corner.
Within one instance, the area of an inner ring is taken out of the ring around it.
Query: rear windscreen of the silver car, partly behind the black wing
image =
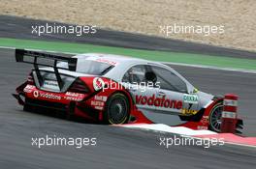
[[[59,68],[67,68],[68,64],[65,62],[59,62],[57,67]],[[104,75],[109,70],[112,70],[114,66],[105,62],[98,62],[92,60],[79,60],[77,65],[77,71],[86,74],[93,75]]]

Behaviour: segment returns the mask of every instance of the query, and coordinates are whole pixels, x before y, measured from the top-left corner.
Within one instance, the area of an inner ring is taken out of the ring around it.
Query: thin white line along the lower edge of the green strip
[[[16,49],[16,47],[8,47],[8,46],[0,46],[0,48]],[[41,49],[30,49],[30,48],[25,48],[25,49],[27,49],[27,50],[34,50],[34,51],[45,51],[45,52],[50,52],[50,53],[63,53],[63,54],[74,54],[74,55],[80,54],[80,53],[72,53],[72,52],[60,52],[60,51],[54,51],[54,50],[41,50]],[[163,64],[170,64],[170,65],[176,65],[176,66],[183,66],[183,67],[193,67],[193,68],[211,69],[211,70],[227,70],[227,71],[237,71],[237,72],[246,72],[246,73],[254,73],[254,74],[256,74],[256,70],[219,68],[219,67],[214,67],[214,66],[182,64],[182,63],[175,63],[175,62],[161,62],[161,63],[163,63]]]

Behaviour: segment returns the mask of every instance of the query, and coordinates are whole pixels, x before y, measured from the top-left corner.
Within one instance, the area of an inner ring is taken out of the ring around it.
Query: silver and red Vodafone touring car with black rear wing
[[[112,54],[63,57],[16,49],[33,64],[13,96],[25,111],[45,108],[103,124],[146,123],[219,132],[223,98],[196,89],[161,63]],[[237,131],[242,120],[237,121]]]

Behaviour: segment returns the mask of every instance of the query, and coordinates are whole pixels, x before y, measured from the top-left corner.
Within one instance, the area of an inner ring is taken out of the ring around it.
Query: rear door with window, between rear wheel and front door
[[[139,110],[143,113],[153,113],[155,106],[150,103],[150,99],[156,95],[156,89],[147,85],[146,71],[146,65],[132,66],[125,72],[122,85],[129,90]]]

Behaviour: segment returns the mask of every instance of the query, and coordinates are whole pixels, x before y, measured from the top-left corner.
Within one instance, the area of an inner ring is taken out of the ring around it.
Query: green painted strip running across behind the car
[[[71,43],[71,42],[41,42],[30,40],[16,40],[0,38],[0,46],[51,50],[57,52],[86,53],[100,52],[133,56],[152,61],[173,62],[211,66],[218,68],[256,70],[256,60],[231,57],[209,56],[202,54],[176,53],[164,51],[152,51],[142,49],[128,49],[102,45]]]

